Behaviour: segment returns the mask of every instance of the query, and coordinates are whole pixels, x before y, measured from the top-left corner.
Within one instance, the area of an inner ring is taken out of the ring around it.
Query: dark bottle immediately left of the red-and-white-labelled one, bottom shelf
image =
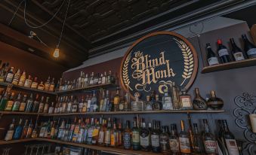
[[[194,126],[194,139],[193,139],[193,151],[196,153],[203,153],[204,152],[204,144],[202,143],[202,136],[199,133],[197,128],[197,123],[193,123]]]

